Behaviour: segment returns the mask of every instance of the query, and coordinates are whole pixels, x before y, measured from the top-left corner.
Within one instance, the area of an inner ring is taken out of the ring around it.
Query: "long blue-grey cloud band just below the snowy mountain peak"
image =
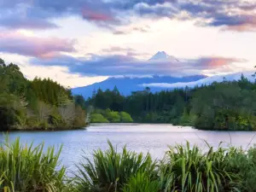
[[[140,61],[129,55],[94,55],[90,59],[61,55],[49,60],[32,59],[34,65],[68,67],[71,73],[89,76],[118,75],[189,75],[202,70],[231,70],[236,62],[244,60],[224,57],[204,57],[182,61]]]

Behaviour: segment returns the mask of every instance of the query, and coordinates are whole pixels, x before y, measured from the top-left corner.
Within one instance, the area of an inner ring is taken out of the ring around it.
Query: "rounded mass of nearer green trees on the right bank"
[[[242,85],[253,86],[249,82]],[[197,90],[192,98],[195,127],[199,129],[242,130],[255,129],[256,91],[243,90],[241,81],[212,84]],[[246,87],[247,87],[246,86]]]

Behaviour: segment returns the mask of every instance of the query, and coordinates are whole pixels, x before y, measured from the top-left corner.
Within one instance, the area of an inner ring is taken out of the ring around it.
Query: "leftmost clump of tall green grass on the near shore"
[[[62,191],[65,189],[65,168],[56,171],[61,148],[55,153],[44,143],[38,146],[25,145],[16,138],[14,143],[7,139],[0,145],[0,190],[39,192]]]

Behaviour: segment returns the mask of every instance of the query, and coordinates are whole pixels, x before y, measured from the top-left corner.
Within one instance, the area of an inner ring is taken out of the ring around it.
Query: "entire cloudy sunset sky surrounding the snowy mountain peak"
[[[255,48],[256,0],[0,0],[0,58],[69,87],[253,70]]]

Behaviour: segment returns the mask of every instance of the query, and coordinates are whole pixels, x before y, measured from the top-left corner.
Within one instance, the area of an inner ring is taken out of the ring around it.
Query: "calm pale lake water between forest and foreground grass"
[[[147,153],[154,158],[163,157],[168,145],[175,143],[197,144],[201,148],[207,148],[201,140],[206,140],[213,147],[225,142],[232,145],[247,147],[256,132],[230,132],[226,131],[198,131],[190,127],[172,125],[90,125],[86,130],[79,131],[15,131],[9,133],[11,140],[20,137],[22,143],[41,143],[59,147],[63,144],[61,162],[69,169],[73,169],[73,163],[81,160],[81,155],[91,158],[94,149],[108,148],[107,139],[119,148],[127,145],[127,148],[137,152]],[[0,135],[3,140],[3,135]],[[256,137],[252,143],[256,143]],[[84,151],[84,152],[83,152]]]

